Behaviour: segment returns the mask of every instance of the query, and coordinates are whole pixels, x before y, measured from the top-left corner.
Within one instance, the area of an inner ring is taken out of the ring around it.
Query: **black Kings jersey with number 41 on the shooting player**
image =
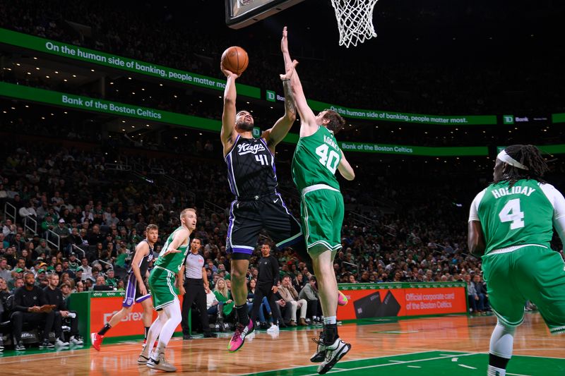
[[[275,192],[278,186],[275,156],[263,138],[238,135],[225,162],[227,180],[237,198],[254,198]]]

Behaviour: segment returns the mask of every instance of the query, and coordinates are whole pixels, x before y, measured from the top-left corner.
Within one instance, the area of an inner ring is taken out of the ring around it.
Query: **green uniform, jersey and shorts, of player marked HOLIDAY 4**
[[[565,332],[565,263],[549,248],[554,226],[565,238],[563,195],[535,180],[493,183],[473,200],[469,221],[481,222],[482,270],[499,320],[520,325],[530,300],[550,332]]]

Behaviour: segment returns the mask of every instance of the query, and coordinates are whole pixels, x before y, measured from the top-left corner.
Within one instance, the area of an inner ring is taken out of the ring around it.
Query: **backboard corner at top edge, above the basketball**
[[[225,0],[225,23],[240,29],[304,0]]]

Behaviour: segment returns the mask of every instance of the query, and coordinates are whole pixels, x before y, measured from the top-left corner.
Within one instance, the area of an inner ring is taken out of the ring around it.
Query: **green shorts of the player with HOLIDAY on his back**
[[[492,310],[502,323],[520,325],[529,300],[549,332],[565,332],[565,262],[559,253],[537,245],[489,253],[482,257],[482,270]]]

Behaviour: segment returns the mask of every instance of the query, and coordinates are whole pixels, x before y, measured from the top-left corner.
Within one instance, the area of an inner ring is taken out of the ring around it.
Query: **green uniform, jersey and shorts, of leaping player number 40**
[[[302,195],[302,231],[309,253],[341,248],[343,196],[335,178],[342,152],[326,127],[301,137],[292,158],[292,179]]]

